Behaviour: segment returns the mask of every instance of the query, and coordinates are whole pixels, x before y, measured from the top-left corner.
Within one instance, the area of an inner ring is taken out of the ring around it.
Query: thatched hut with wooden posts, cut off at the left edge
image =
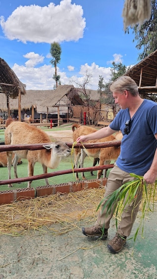
[[[5,104],[10,116],[10,99],[18,97],[19,119],[21,119],[21,95],[26,94],[25,84],[23,84],[8,66],[8,64],[0,58],[0,95],[6,96]],[[0,103],[0,109],[3,110],[3,103]]]

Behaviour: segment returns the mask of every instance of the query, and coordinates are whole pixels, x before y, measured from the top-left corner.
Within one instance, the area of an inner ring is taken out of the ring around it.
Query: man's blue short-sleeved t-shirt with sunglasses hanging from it
[[[130,120],[129,109],[120,110],[110,124],[113,130],[123,134],[118,167],[128,173],[144,175],[152,164],[157,148],[157,103],[144,99],[132,119],[130,133],[124,134],[125,122]]]

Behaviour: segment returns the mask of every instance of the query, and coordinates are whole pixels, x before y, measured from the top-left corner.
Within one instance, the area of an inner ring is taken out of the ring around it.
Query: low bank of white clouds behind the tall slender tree
[[[14,64],[12,70],[15,72],[20,81],[26,84],[26,89],[34,89],[34,90],[46,90],[53,89],[55,85],[55,81],[53,80],[54,75],[54,67],[51,65],[42,65],[40,67],[32,66],[33,63],[37,63],[40,59],[42,60],[42,56],[37,53],[30,52],[24,55],[24,57],[29,60],[25,63],[25,66],[20,66],[18,64]],[[35,59],[36,57],[36,59]],[[35,60],[35,61],[34,61]],[[72,66],[68,66],[72,67]],[[76,82],[78,84],[82,84],[84,78],[86,78],[86,73],[91,74],[91,80],[88,84],[88,88],[97,90],[99,76],[104,78],[105,82],[108,82],[111,78],[111,67],[99,67],[94,62],[91,65],[87,63],[80,66],[80,70],[76,75],[73,75],[69,78],[69,71],[61,72],[59,67],[57,67],[57,74],[60,75],[61,84],[73,84],[76,86]],[[73,82],[72,82],[73,80]],[[76,81],[76,82],[74,82]]]

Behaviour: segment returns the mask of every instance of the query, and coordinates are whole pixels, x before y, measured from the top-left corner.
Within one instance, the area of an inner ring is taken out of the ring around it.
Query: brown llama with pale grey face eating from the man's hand
[[[44,150],[18,150],[7,151],[7,167],[8,178],[11,178],[11,160],[12,153],[15,154],[13,159],[14,175],[17,178],[17,161],[19,158],[28,159],[28,176],[32,176],[34,173],[34,166],[36,162],[42,164],[43,173],[47,173],[47,167],[58,167],[61,158],[67,157],[71,154],[71,149],[63,142],[50,143],[50,137],[39,128],[29,125],[25,122],[12,121],[5,129],[5,144],[34,144],[43,143]],[[31,182],[28,181],[28,188],[31,187]],[[45,178],[46,185],[48,185],[48,179]],[[8,184],[8,187],[12,187]]]

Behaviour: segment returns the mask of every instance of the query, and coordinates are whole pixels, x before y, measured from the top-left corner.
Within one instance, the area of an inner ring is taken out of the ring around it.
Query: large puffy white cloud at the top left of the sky
[[[80,5],[61,0],[59,5],[51,2],[43,7],[20,5],[6,21],[1,16],[0,25],[9,40],[24,43],[77,41],[83,37],[85,18]]]

